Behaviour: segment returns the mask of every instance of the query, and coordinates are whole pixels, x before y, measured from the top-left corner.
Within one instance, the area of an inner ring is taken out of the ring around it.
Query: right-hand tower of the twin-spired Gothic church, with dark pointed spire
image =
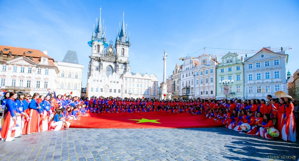
[[[124,21],[124,13],[123,13],[123,23],[121,25],[121,28],[118,29],[118,33],[115,40],[115,51],[117,55],[117,59],[120,66],[120,74],[125,72],[130,72],[129,67],[129,47],[130,47],[130,34],[129,37],[127,36],[127,25],[125,28],[125,21]]]

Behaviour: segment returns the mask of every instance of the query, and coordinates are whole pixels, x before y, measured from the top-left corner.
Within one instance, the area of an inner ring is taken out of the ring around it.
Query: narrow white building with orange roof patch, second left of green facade
[[[192,57],[185,57],[184,63],[181,69],[181,91],[180,91],[180,98],[189,99],[194,98],[194,82],[195,82],[195,75],[194,70],[195,67],[198,66],[198,61],[192,59]]]

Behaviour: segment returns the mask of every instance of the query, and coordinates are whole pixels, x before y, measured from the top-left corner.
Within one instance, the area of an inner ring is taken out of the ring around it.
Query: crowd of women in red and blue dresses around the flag
[[[30,100],[30,97],[32,99]],[[273,139],[267,129],[279,130],[278,138],[295,142],[295,117],[298,115],[298,99],[283,96],[280,99],[267,97],[249,100],[160,100],[160,99],[122,99],[91,97],[78,98],[71,95],[57,95],[49,92],[43,96],[34,93],[6,92],[2,100],[4,124],[1,140],[11,141],[24,134],[48,130],[61,130],[67,119],[77,119],[86,113],[139,113],[164,110],[168,113],[192,113],[204,115],[207,119],[222,122],[225,127]],[[292,100],[294,100],[292,102]],[[295,109],[294,109],[294,104]],[[240,125],[248,123],[250,129],[244,131]]]

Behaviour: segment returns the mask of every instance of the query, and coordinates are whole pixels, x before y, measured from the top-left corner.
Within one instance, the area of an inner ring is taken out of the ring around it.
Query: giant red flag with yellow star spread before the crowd
[[[88,113],[68,120],[77,128],[193,128],[223,126],[222,122],[191,113],[139,112]]]

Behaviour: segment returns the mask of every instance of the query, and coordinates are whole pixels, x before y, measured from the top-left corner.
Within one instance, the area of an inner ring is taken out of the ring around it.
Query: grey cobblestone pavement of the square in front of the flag
[[[70,128],[0,142],[0,160],[288,160],[282,156],[298,160],[298,143],[248,136],[224,127]]]

